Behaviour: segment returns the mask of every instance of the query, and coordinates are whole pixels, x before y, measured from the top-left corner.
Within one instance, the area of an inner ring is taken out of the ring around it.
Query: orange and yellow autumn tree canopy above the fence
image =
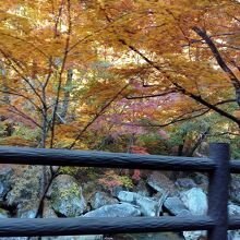
[[[0,144],[238,158],[239,51],[238,0],[5,0]]]

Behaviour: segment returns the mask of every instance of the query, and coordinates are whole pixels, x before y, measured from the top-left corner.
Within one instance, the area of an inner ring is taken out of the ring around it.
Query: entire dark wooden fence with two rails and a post
[[[209,240],[226,240],[228,229],[240,229],[240,217],[228,217],[230,172],[240,173],[240,161],[230,160],[225,143],[211,144],[209,158],[0,147],[0,164],[201,171],[209,176],[207,216],[8,218],[0,219],[0,237],[207,230]]]

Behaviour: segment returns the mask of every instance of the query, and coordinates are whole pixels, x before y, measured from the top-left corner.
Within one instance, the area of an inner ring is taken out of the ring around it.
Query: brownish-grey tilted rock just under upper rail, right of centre
[[[168,191],[170,195],[175,195],[177,192],[173,182],[158,171],[154,171],[147,178],[147,184],[160,193],[166,193],[166,191]]]

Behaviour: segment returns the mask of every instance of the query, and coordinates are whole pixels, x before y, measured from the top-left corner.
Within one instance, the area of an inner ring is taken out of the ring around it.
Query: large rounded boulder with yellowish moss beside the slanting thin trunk
[[[80,216],[86,209],[82,188],[68,175],[60,175],[52,181],[50,201],[55,212],[65,217]]]

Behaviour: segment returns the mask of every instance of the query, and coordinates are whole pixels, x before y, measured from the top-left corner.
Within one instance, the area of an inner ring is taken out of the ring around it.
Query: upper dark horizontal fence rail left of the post
[[[209,171],[209,158],[171,157],[122,153],[0,147],[0,164],[82,166],[104,168]]]

